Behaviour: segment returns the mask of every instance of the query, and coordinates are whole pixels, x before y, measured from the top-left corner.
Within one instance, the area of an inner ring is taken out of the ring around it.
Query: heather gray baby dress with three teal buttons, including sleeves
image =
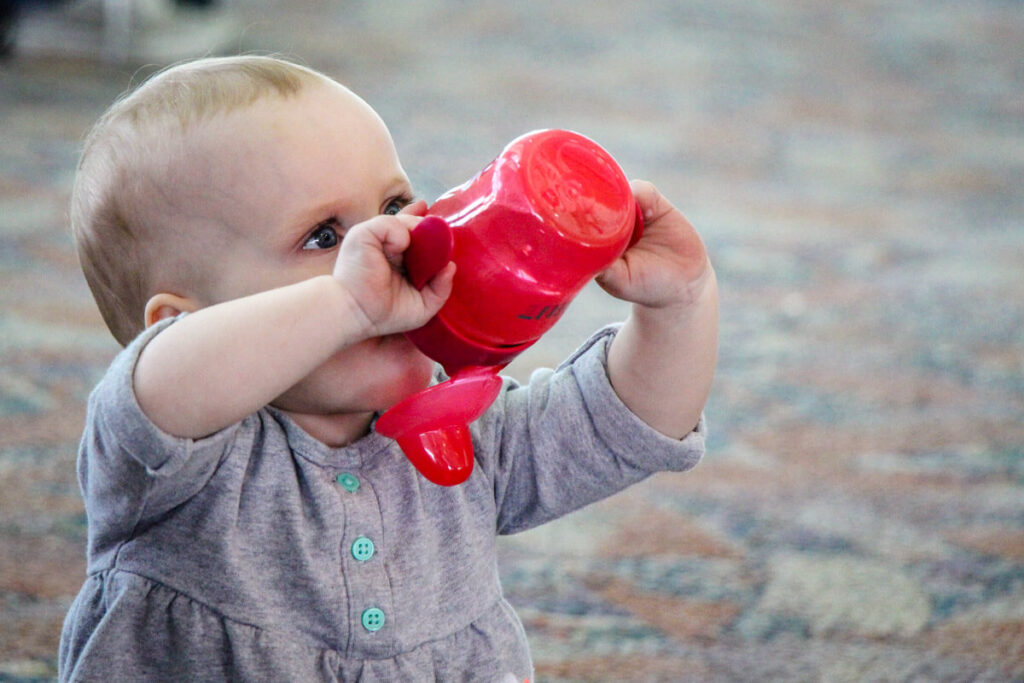
[[[391,439],[332,449],[267,408],[207,438],[142,414],[131,377],[155,326],[89,399],[79,454],[88,577],[66,618],[74,681],[523,681],[522,626],[496,536],[659,470],[682,440],[618,400],[600,331],[557,371],[505,380],[472,426],[465,483],[430,483]]]

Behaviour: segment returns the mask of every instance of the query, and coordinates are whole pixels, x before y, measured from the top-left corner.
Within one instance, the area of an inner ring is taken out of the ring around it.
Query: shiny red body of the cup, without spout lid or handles
[[[516,138],[427,213],[452,226],[458,269],[444,306],[409,336],[450,373],[504,366],[540,339],[638,228],[622,169],[566,130]]]

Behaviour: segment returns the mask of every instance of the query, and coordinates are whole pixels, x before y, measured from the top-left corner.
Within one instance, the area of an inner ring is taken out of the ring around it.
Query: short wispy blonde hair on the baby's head
[[[146,301],[157,293],[150,198],[172,191],[162,186],[159,169],[180,155],[176,140],[217,114],[324,82],[331,81],[278,57],[198,59],[156,74],[99,118],[75,175],[71,225],[86,282],[122,345],[141,332]]]

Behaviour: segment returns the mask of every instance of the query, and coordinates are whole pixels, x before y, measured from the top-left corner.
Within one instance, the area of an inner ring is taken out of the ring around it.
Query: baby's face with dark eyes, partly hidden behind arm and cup
[[[193,296],[204,305],[329,274],[347,229],[413,201],[387,128],[340,86],[266,98],[194,133],[200,154],[188,164],[191,177],[176,180],[191,196],[181,221],[191,258],[202,260],[205,282]],[[315,415],[371,412],[422,389],[431,372],[404,337],[371,339],[274,404]]]

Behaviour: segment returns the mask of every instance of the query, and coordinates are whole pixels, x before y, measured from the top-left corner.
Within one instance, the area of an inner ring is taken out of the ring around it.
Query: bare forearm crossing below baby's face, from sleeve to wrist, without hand
[[[142,350],[134,388],[175,436],[212,434],[259,410],[359,341],[361,316],[329,275],[202,308]]]

